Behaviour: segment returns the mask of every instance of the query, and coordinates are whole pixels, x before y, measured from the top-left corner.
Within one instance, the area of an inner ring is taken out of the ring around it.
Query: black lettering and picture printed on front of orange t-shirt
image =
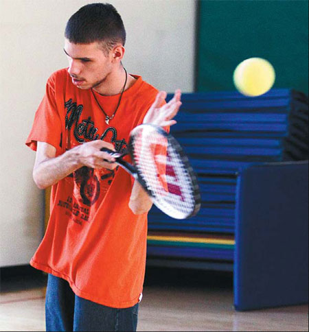
[[[65,102],[66,117],[65,127],[67,129],[67,150],[88,141],[101,139],[115,144],[115,150],[119,153],[126,150],[125,139],[117,139],[117,130],[113,127],[107,128],[99,133],[91,117],[80,119],[84,106],[69,99]],[[73,135],[72,135],[73,134]],[[72,136],[72,137],[71,137]],[[73,143],[72,143],[72,141]],[[67,202],[60,201],[58,205],[66,209],[65,213],[70,215],[74,222],[82,224],[82,221],[89,221],[91,206],[95,204],[108,191],[113,178],[119,167],[114,170],[93,169],[91,167],[81,167],[67,176],[66,180],[73,181],[73,197],[68,197]],[[80,218],[82,220],[80,220]]]

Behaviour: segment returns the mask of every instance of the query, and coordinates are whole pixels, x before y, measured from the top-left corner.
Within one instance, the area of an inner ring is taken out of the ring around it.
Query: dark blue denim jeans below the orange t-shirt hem
[[[48,275],[46,331],[136,331],[138,309],[138,303],[116,309],[80,298],[67,281]]]

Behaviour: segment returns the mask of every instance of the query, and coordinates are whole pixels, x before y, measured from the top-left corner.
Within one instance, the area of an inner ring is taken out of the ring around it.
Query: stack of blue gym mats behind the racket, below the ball
[[[171,133],[198,176],[201,211],[188,220],[174,220],[154,206],[148,235],[211,234],[218,239],[233,235],[240,168],[256,162],[308,160],[308,97],[290,89],[273,89],[260,97],[237,92],[187,93],[181,100]],[[232,261],[233,248],[148,241],[148,257]]]

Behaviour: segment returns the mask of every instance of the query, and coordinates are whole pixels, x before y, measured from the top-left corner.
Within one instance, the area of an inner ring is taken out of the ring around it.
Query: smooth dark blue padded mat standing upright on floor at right
[[[236,309],[308,303],[308,161],[251,165],[237,195]]]

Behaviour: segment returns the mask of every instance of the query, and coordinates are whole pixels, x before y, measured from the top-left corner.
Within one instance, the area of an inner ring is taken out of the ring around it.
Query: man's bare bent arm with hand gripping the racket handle
[[[115,158],[106,152],[101,152],[102,147],[115,150],[111,143],[98,140],[73,147],[73,149],[56,157],[56,147],[48,143],[38,142],[33,169],[34,182],[38,188],[45,189],[82,166],[114,169],[117,165],[107,163],[104,159],[114,162]]]

